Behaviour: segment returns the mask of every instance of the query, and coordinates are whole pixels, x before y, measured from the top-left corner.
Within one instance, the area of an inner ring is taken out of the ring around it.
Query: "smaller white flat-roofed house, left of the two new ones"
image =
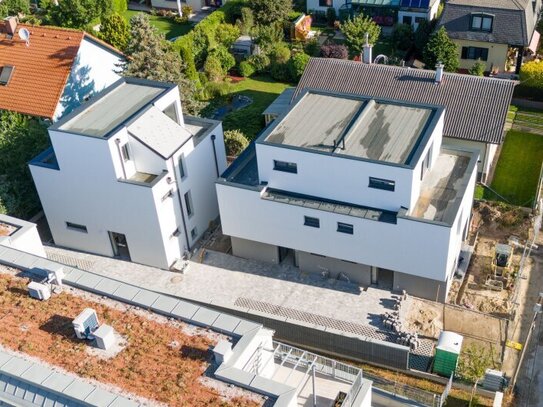
[[[123,78],[49,127],[30,170],[55,244],[169,269],[218,215],[220,122],[176,85]]]

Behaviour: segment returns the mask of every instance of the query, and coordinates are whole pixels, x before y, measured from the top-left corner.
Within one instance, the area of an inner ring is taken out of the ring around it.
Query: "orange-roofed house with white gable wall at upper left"
[[[82,31],[0,21],[0,109],[56,121],[118,80],[123,61]]]

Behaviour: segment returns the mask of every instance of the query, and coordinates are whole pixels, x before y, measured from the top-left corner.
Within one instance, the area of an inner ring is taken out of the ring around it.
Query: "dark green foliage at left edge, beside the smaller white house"
[[[49,145],[38,119],[0,111],[0,213],[28,218],[40,208],[28,161]]]

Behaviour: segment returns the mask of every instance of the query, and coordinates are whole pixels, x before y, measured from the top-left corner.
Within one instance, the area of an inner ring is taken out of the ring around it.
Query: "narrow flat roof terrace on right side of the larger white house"
[[[442,149],[422,181],[420,196],[409,216],[452,224],[475,165],[474,152]]]

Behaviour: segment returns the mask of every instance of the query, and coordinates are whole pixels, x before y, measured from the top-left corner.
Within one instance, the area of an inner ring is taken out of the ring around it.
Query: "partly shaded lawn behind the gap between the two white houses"
[[[268,76],[246,78],[233,84],[230,96],[249,96],[253,103],[227,114],[223,119],[224,130],[239,129],[249,140],[254,140],[264,128],[262,112],[289,86],[292,85],[276,82]]]

